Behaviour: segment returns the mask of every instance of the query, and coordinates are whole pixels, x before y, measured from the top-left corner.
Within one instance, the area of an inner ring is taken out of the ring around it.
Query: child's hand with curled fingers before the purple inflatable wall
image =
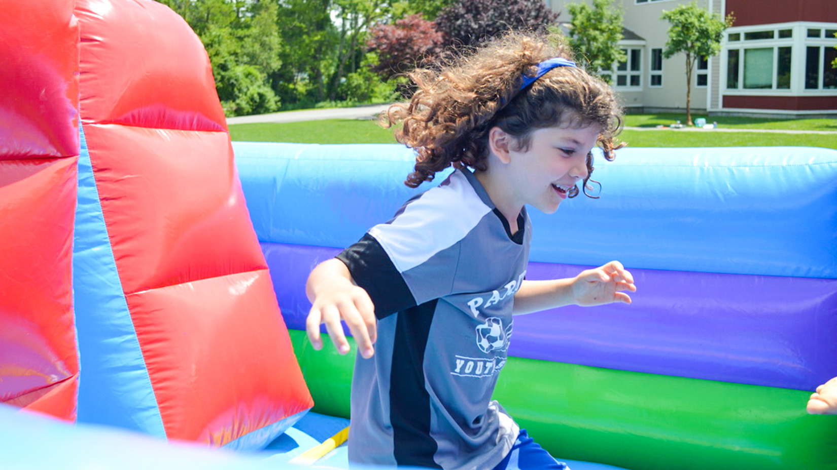
[[[619,261],[582,271],[573,280],[573,299],[578,305],[630,304],[630,296],[624,291],[636,292],[636,286],[634,276]]]

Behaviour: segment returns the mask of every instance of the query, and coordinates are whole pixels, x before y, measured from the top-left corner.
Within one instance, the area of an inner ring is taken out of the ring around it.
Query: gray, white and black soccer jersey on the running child
[[[491,394],[526,275],[525,209],[517,222],[512,236],[457,170],[338,255],[377,316],[375,355],[355,363],[351,462],[482,470],[511,450],[519,428]]]

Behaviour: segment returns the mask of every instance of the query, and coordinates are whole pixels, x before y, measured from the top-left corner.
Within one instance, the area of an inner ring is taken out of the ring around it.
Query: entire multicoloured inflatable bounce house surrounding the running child
[[[307,344],[305,281],[426,189],[412,152],[230,142],[160,3],[0,13],[0,467],[346,468],[354,358]],[[837,151],[598,163],[600,198],[532,211],[528,276],[619,259],[634,304],[520,317],[496,398],[574,470],[837,469],[805,412],[837,376]]]

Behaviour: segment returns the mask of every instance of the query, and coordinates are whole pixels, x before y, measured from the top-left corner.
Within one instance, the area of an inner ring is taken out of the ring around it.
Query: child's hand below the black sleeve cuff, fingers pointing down
[[[340,324],[342,319],[352,331],[361,355],[367,359],[372,357],[375,353],[372,345],[377,339],[375,306],[367,291],[354,283],[345,264],[331,258],[317,265],[308,276],[306,294],[311,301],[306,331],[315,350],[322,349],[320,324],[326,324],[337,351],[340,354],[349,352],[349,343]]]

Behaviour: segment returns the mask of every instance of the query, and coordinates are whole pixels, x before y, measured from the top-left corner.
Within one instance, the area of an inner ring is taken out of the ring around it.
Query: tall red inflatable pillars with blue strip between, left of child
[[[0,12],[0,397],[264,446],[312,401],[203,45],[150,1]]]

